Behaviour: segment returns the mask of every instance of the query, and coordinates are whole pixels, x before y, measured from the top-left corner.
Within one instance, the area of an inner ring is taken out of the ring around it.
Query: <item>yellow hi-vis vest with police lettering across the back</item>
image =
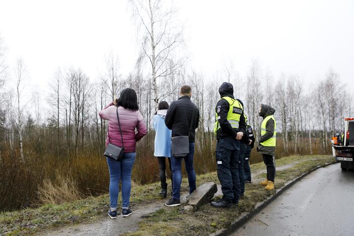
[[[226,117],[227,121],[230,123],[232,128],[239,129],[240,117],[241,117],[244,107],[241,105],[241,103],[238,100],[235,100],[233,98],[222,97],[221,99],[226,100],[228,102],[228,104],[230,105],[230,108],[228,109],[227,117]],[[219,119],[220,119],[220,116],[218,116],[217,112],[215,111],[215,124],[214,124],[214,133],[215,134],[216,134],[217,130],[220,129]]]

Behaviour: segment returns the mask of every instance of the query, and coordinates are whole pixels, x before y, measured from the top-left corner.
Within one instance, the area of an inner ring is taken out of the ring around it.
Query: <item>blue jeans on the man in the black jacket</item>
[[[189,194],[196,190],[196,172],[193,167],[194,143],[189,143],[189,153],[185,157],[171,157],[172,175],[173,175],[173,199],[180,200],[182,183],[182,159],[185,160],[186,171],[188,175]]]

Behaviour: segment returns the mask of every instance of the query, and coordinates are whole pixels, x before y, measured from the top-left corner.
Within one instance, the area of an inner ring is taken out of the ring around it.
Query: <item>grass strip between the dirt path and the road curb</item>
[[[283,158],[282,165],[289,164],[296,157]],[[304,161],[291,168],[278,171],[275,188],[281,188],[290,180],[310,171],[318,165],[333,162],[329,156],[306,156]],[[299,160],[299,158],[297,159]],[[277,165],[279,166],[279,160]],[[265,178],[266,174],[260,174]],[[274,191],[266,191],[258,183],[246,185],[245,199],[241,199],[239,208],[217,209],[209,204],[204,205],[197,212],[186,212],[181,208],[163,208],[146,215],[139,223],[139,229],[126,235],[207,235],[221,228],[227,228],[241,213],[252,211],[258,202],[266,200]]]

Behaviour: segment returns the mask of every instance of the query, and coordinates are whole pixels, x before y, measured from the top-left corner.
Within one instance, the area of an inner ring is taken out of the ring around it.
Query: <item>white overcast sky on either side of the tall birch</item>
[[[23,57],[33,84],[44,89],[58,67],[80,67],[91,79],[104,55],[119,54],[122,74],[136,62],[136,26],[126,1],[0,2],[0,35],[13,66]],[[210,79],[229,58],[245,76],[253,59],[277,79],[304,81],[332,67],[354,86],[354,1],[175,1],[185,23],[190,63]]]

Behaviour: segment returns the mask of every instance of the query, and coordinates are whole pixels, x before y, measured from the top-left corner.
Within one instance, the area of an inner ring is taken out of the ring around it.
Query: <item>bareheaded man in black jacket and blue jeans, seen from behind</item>
[[[165,203],[166,206],[179,206],[180,191],[182,183],[182,159],[185,160],[186,171],[188,175],[189,193],[196,190],[196,173],[193,167],[194,157],[194,142],[196,129],[199,124],[199,109],[191,101],[192,88],[188,85],[183,85],[180,90],[181,97],[173,101],[169,106],[165,124],[168,129],[172,130],[172,137],[189,136],[189,154],[185,157],[171,156],[172,175],[173,175],[173,196]]]

